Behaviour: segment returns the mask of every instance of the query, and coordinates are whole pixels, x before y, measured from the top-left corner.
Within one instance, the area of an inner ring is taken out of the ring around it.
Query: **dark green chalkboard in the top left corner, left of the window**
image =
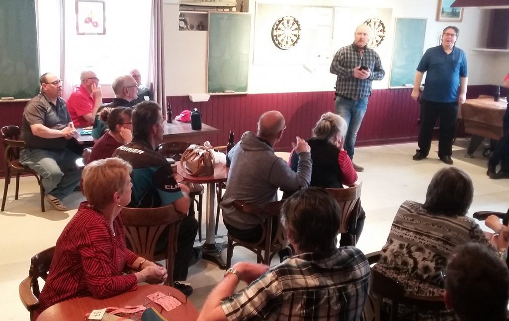
[[[55,37],[59,35],[56,30]],[[0,70],[0,97],[24,99],[39,93],[35,0],[0,1]]]

